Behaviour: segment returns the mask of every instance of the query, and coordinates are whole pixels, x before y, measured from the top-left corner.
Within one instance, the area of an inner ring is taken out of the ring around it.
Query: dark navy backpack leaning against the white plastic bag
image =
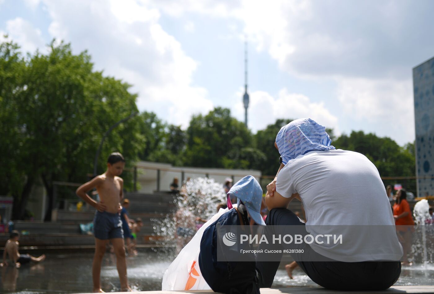
[[[232,247],[223,245],[223,240],[217,232],[218,225],[240,225],[244,231],[247,231],[247,234],[250,234],[247,213],[241,214],[237,208],[227,211],[206,228],[202,235],[198,258],[202,276],[214,292],[259,294],[255,255],[249,253],[247,256],[248,261],[228,260],[230,258],[227,258],[227,255],[230,254],[225,254],[224,251],[231,250]],[[245,246],[245,249],[250,249],[249,244],[242,246]],[[232,250],[240,249],[240,247],[235,247]],[[217,261],[217,251],[220,251],[219,256],[224,257],[223,261]]]

